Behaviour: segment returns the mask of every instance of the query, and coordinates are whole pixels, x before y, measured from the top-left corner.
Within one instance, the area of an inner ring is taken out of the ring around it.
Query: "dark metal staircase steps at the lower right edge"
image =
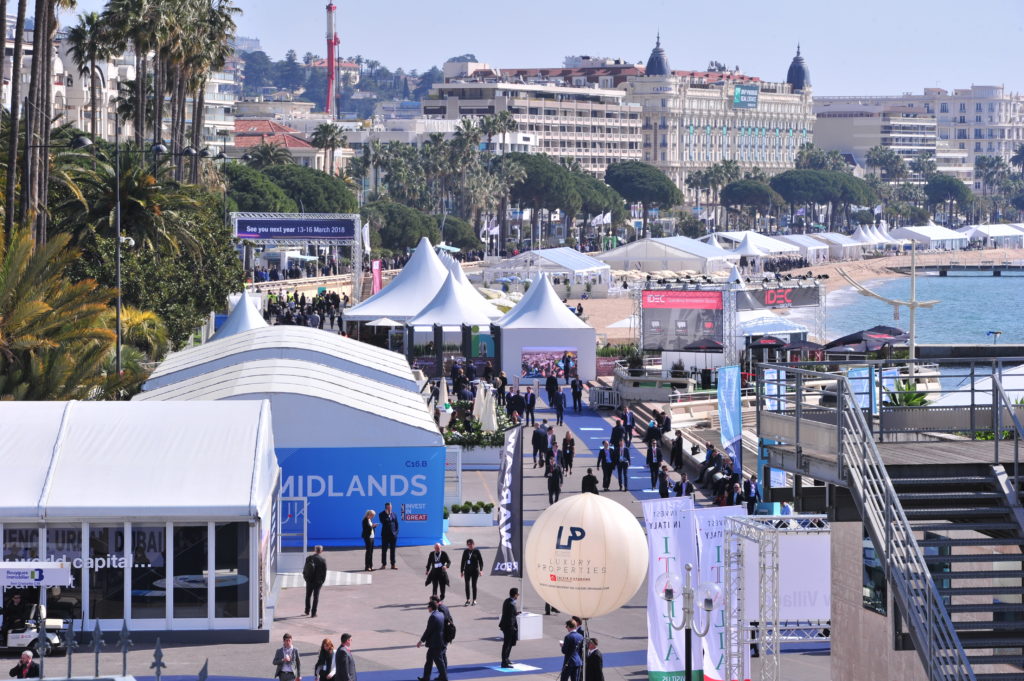
[[[890,466],[977,681],[1024,681],[1024,533],[1001,467]]]

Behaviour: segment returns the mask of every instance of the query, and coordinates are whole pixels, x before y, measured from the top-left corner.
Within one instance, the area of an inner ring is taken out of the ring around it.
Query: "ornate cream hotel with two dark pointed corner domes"
[[[712,62],[673,71],[660,39],[643,74],[626,79],[627,101],[643,111],[641,160],[664,171],[691,199],[687,176],[722,161],[774,175],[794,167],[811,141],[811,77],[800,49],[785,82],[766,82]]]

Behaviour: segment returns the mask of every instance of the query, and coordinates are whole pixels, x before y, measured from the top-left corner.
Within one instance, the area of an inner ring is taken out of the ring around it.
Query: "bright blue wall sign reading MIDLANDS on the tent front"
[[[362,546],[362,516],[370,509],[380,513],[387,502],[398,517],[399,545],[440,540],[443,446],[278,448],[278,463],[281,496],[306,499],[310,545]]]

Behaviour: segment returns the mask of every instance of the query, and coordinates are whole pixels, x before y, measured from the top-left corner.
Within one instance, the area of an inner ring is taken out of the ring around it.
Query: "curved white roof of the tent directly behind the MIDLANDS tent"
[[[417,389],[416,379],[403,355],[335,333],[292,325],[265,326],[216,343],[172,352],[151,374],[143,389],[161,388],[256,359],[305,360],[395,387]]]

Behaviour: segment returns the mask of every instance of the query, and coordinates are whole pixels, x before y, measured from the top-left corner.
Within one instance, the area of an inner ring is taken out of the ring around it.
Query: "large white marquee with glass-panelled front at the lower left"
[[[0,403],[0,466],[14,476],[0,497],[4,558],[77,562],[70,587],[40,597],[79,631],[267,640],[281,518],[269,410]]]

